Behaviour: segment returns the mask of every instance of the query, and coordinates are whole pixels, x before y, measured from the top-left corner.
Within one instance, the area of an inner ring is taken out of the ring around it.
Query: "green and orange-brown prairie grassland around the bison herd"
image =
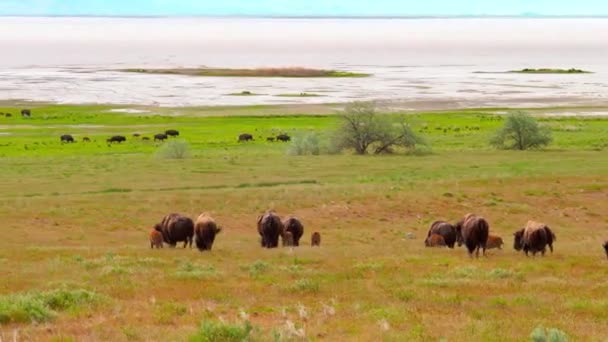
[[[410,118],[431,155],[294,157],[265,137],[326,132],[336,118],[108,109],[0,117],[5,340],[181,341],[201,321],[244,320],[263,341],[521,341],[538,325],[608,336],[607,119],[543,118],[550,149],[507,152],[487,147],[501,124],[492,111],[427,113]],[[192,158],[157,159],[160,144],[131,137],[169,128]],[[256,141],[238,144],[244,132]],[[62,145],[65,133],[93,142]],[[108,146],[112,134],[129,140]],[[255,219],[268,208],[303,220],[302,247],[260,248]],[[202,211],[224,227],[211,253],[150,250],[163,215]],[[504,250],[475,260],[424,248],[431,222],[467,212],[488,218]],[[556,232],[554,254],[512,249],[532,218]],[[313,231],[321,248],[308,246]]]

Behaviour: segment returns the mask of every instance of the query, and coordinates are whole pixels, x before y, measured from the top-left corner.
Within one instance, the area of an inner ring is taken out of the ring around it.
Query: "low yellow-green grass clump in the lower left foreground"
[[[11,294],[0,297],[0,324],[47,322],[58,311],[75,310],[95,304],[102,296],[87,290],[59,289],[40,293]]]

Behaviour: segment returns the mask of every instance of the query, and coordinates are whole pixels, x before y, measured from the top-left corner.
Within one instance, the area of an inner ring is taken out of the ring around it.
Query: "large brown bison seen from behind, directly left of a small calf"
[[[468,214],[465,218],[456,224],[456,241],[458,246],[463,244],[467,247],[469,256],[479,257],[479,250],[483,250],[483,255],[486,254],[486,243],[488,242],[488,234],[490,225],[483,217]]]

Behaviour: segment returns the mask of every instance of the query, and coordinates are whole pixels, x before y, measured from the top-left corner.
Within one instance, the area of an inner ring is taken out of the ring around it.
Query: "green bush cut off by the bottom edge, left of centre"
[[[248,321],[243,325],[205,321],[190,342],[243,342],[249,341],[253,326]]]

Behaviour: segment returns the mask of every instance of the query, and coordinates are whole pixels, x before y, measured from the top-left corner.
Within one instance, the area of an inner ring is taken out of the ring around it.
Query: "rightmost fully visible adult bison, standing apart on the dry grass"
[[[526,226],[513,234],[513,248],[517,251],[523,250],[526,255],[532,252],[535,256],[540,252],[545,255],[547,246],[553,252],[555,234],[544,223],[528,221]]]

